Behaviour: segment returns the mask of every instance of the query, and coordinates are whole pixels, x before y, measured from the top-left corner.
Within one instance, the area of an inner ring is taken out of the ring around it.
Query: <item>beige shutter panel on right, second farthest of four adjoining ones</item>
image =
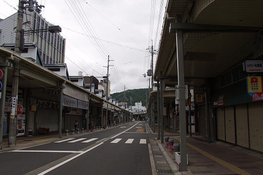
[[[234,106],[225,107],[225,141],[236,143]]]

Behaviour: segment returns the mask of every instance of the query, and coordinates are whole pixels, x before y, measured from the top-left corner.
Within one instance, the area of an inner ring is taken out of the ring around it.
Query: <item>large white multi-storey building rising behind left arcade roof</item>
[[[27,15],[26,15],[27,14]],[[53,24],[46,21],[42,15],[38,12],[29,12],[26,11],[23,18],[23,29],[27,30],[38,30],[38,29],[47,29]],[[16,37],[16,26],[17,26],[18,13],[11,15],[3,20],[0,20],[0,46],[6,47],[10,44],[15,44]],[[39,55],[44,64],[57,64],[64,63],[65,61],[65,42],[66,40],[58,33],[50,32],[38,32],[33,33],[32,35],[25,35],[25,44],[26,43],[36,43],[38,48]],[[8,48],[8,47],[7,47]],[[10,48],[12,49],[12,48]],[[31,55],[29,49],[25,48],[22,52],[22,56],[37,60],[37,54]],[[30,55],[29,55],[30,54]],[[33,54],[33,53],[32,53]]]

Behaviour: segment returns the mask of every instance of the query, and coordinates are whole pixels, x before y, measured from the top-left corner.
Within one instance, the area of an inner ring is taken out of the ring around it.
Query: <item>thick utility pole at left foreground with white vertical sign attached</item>
[[[21,54],[21,44],[23,44],[22,29],[23,29],[23,17],[24,17],[24,4],[19,0],[19,10],[17,19],[17,33],[15,42],[15,52]],[[8,146],[15,147],[17,139],[17,105],[18,105],[18,86],[19,86],[19,62],[20,58],[15,57],[13,63],[13,83],[12,83],[12,95],[10,106],[10,119],[9,119],[9,135]]]

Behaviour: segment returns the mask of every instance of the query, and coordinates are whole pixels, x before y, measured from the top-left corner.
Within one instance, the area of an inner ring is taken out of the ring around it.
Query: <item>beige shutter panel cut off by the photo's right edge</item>
[[[263,102],[248,104],[250,148],[263,152]]]

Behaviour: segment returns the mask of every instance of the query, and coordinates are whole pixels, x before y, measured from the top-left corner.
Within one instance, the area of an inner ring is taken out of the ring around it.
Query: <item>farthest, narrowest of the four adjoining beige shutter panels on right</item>
[[[224,107],[218,107],[216,110],[217,120],[217,139],[225,140],[225,114]]]

